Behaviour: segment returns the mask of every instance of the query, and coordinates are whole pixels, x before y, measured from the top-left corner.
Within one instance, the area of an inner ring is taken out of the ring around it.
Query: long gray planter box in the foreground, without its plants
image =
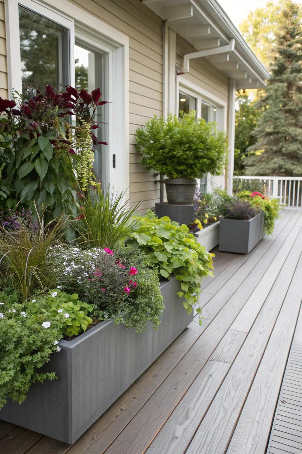
[[[43,370],[58,380],[35,383],[19,405],[8,401],[0,419],[74,443],[153,363],[193,320],[176,292],[176,279],[161,283],[165,309],[158,330],[144,333],[104,321],[72,341],[60,341]]]

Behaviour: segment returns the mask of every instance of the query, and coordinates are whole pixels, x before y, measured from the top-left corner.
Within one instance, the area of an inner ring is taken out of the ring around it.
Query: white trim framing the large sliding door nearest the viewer
[[[71,85],[75,84],[74,66],[74,25],[82,30],[88,30],[101,42],[106,42],[111,50],[110,87],[107,101],[109,104],[109,180],[116,190],[125,191],[125,200],[129,199],[129,37],[119,30],[115,30],[100,19],[82,10],[68,0],[9,0],[5,2],[5,25],[7,37],[7,59],[9,94],[12,88],[22,91],[20,46],[19,46],[19,12],[18,4],[33,9],[38,14],[43,8],[48,8],[48,18],[60,23],[70,30],[70,69]],[[31,5],[31,6],[29,6]],[[18,22],[17,22],[18,21]],[[65,22],[64,22],[65,21]],[[18,27],[17,27],[18,25]],[[101,31],[100,31],[101,30]],[[19,75],[18,75],[19,74]],[[17,77],[19,82],[17,82]],[[18,89],[18,88],[19,89]],[[113,154],[115,154],[115,168],[112,166]]]

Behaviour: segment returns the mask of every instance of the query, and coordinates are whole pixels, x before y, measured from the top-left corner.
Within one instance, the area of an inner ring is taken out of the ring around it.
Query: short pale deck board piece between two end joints
[[[244,342],[246,333],[242,331],[228,330],[221,339],[216,349],[210,356],[211,361],[223,361],[232,363]]]

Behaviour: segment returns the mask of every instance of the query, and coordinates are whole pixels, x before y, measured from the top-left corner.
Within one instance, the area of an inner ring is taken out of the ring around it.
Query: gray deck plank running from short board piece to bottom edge
[[[230,364],[208,361],[187,394],[177,405],[146,454],[177,454],[185,452],[195,428],[206,413]]]

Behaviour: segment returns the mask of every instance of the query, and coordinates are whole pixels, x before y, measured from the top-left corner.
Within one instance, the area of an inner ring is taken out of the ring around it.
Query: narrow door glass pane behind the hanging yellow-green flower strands
[[[105,53],[100,52],[88,45],[77,42],[74,46],[75,57],[75,73],[76,73],[76,88],[77,90],[87,90],[91,93],[92,90],[99,88],[102,93],[102,100],[107,101],[105,97]],[[108,120],[106,120],[107,105],[98,106],[96,108],[95,120],[99,122],[99,128],[93,133],[98,140],[108,142]],[[97,145],[95,152],[94,172],[96,177],[101,181],[103,188],[109,184],[108,181],[108,153],[107,145]],[[107,171],[106,171],[107,170]]]

